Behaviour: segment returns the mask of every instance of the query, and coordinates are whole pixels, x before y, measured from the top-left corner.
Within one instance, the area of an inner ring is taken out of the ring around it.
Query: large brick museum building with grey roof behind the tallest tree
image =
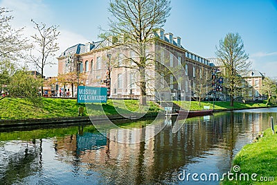
[[[145,46],[145,56],[154,61],[148,62],[149,68],[145,71],[148,99],[187,100],[194,95],[195,78],[203,78],[199,73],[211,76],[209,60],[184,49],[180,37],[163,29],[153,33],[153,37],[153,42]],[[86,85],[108,87],[111,98],[139,98],[141,94],[136,64],[139,55],[128,47],[115,46],[109,39],[71,46],[57,60],[58,73],[86,73]],[[162,67],[157,67],[157,62]],[[164,89],[170,93],[163,93]]]

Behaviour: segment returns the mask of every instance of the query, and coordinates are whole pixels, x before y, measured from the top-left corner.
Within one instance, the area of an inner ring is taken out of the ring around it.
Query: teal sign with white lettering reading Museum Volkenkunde
[[[107,88],[78,86],[78,103],[107,103]]]

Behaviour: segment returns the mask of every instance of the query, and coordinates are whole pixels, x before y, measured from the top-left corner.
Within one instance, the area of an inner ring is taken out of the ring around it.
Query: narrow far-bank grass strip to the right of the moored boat
[[[181,107],[187,106],[186,103],[181,101],[174,101],[177,105],[181,105]],[[187,102],[188,104],[188,102]],[[263,103],[238,103],[234,102],[234,106],[230,106],[230,102],[225,101],[219,101],[215,102],[215,109],[247,109],[247,108],[253,108],[253,107],[267,107],[266,102]],[[201,106],[198,105],[197,101],[191,101],[190,102],[190,110],[202,110],[204,106],[210,106],[210,109],[213,109],[213,102],[201,102]]]

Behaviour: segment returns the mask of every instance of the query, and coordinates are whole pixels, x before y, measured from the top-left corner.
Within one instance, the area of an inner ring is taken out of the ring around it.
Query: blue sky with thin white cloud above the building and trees
[[[204,58],[215,57],[215,46],[227,33],[238,33],[253,69],[277,77],[277,0],[172,0],[163,29],[181,37],[185,49]],[[35,33],[30,19],[59,26],[60,53],[75,44],[96,42],[100,27],[108,28],[109,0],[0,0],[12,10],[12,26]],[[54,59],[57,63],[57,60]],[[46,76],[57,75],[57,64]]]

